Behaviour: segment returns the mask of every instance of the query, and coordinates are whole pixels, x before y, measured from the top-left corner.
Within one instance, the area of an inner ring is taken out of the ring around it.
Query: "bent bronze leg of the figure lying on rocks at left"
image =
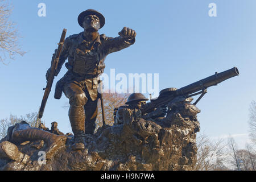
[[[49,133],[48,131],[34,128],[14,131],[13,135],[11,136],[11,142],[13,143],[22,143],[36,140],[43,140],[46,142],[46,159],[51,159],[61,146],[65,146],[67,137],[65,137],[65,135],[55,135]]]

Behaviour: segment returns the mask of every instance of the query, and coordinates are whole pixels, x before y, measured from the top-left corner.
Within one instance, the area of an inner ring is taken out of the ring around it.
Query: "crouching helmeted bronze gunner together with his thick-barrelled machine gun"
[[[152,99],[148,103],[146,103],[148,99],[144,97],[143,94],[133,93],[126,102],[129,106],[121,106],[115,109],[114,124],[119,125],[123,123],[123,113],[125,113],[126,110],[133,110],[134,114],[132,117],[134,117],[135,120],[142,118],[145,120],[155,119],[156,122],[171,121],[171,118],[177,113],[181,114],[184,118],[188,117],[191,120],[196,119],[194,117],[196,114],[200,113],[200,109],[196,107],[196,104],[201,100],[204,94],[207,93],[207,88],[238,75],[239,71],[236,67],[221,73],[216,72],[212,76],[180,89],[163,89],[160,91],[158,98]],[[201,94],[201,96],[197,98],[195,103],[191,104],[193,100],[191,97],[198,94]]]

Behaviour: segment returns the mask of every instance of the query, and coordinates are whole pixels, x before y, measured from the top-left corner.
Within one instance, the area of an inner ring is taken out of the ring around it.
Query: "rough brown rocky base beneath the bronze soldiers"
[[[42,151],[53,147],[46,141],[13,144],[2,139],[0,170],[192,170],[200,130],[196,116],[173,113],[168,119],[145,121],[131,119],[133,114],[125,113],[123,125],[86,135],[85,150],[73,151],[73,137],[63,135],[56,150],[46,152],[46,161]]]

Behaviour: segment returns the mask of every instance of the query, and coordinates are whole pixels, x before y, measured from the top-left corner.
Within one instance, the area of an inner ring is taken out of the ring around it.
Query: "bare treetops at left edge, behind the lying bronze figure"
[[[0,139],[7,135],[8,127],[22,121],[26,121],[31,127],[38,127],[40,122],[37,121],[37,115],[38,113],[30,113],[18,118],[16,115],[10,114],[9,118],[0,119]]]

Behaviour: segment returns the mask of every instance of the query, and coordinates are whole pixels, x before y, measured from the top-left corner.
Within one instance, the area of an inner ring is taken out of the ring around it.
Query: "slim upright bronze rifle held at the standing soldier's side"
[[[51,64],[51,68],[50,68],[51,71],[49,72],[47,85],[46,85],[46,88],[43,89],[44,90],[44,96],[43,96],[42,104],[40,106],[39,113],[38,113],[38,118],[39,119],[43,117],[44,107],[46,107],[46,102],[47,102],[47,99],[49,97],[49,93],[51,92],[52,83],[53,83],[53,79],[54,79],[54,76],[55,76],[55,71],[56,71],[57,66],[59,64],[60,53],[61,53],[61,49],[62,49],[63,44],[64,44],[66,32],[67,32],[67,29],[64,28],[63,32],[61,34],[61,37],[60,37],[60,42],[58,43],[59,46],[57,48],[57,52],[55,54],[54,59],[52,60],[52,64]]]

